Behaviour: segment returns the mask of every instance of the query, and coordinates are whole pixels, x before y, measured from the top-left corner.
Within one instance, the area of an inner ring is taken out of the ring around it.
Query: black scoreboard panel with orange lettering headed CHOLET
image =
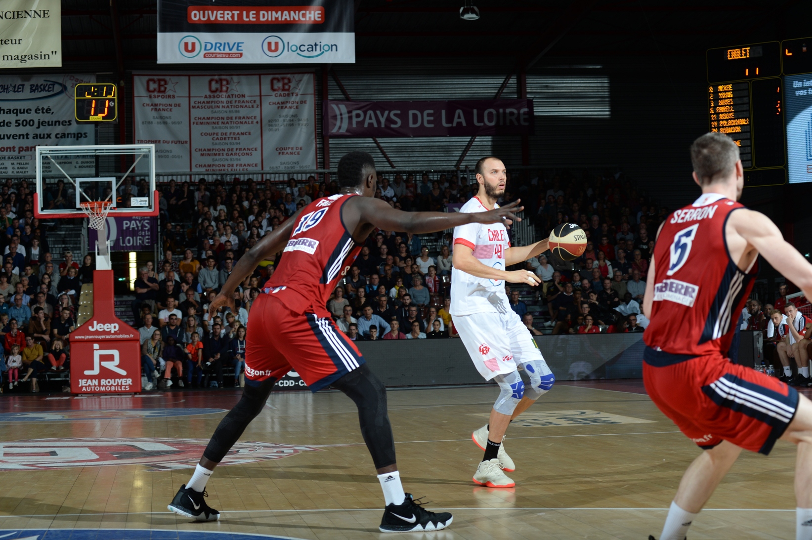
[[[785,184],[781,44],[710,49],[706,60],[709,127],[739,146],[745,187]]]

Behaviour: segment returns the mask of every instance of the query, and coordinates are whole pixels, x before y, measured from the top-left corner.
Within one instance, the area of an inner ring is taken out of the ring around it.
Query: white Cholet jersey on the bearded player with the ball
[[[499,208],[499,205],[496,206]],[[477,197],[466,202],[460,212],[487,212]],[[468,223],[454,227],[454,244],[473,250],[473,256],[483,265],[505,269],[505,251],[510,247],[508,229],[502,223]],[[451,269],[451,316],[473,313],[505,313],[510,311],[502,279],[477,278],[456,268]]]

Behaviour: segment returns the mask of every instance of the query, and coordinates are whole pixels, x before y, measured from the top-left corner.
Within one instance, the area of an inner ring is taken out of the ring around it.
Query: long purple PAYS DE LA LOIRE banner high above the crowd
[[[331,137],[532,135],[533,100],[324,102]]]

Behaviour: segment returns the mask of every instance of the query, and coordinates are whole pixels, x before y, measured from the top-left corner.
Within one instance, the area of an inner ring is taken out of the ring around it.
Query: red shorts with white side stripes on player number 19
[[[254,300],[245,336],[245,377],[279,379],[294,370],[316,392],[364,363],[330,313],[293,313],[275,296]]]

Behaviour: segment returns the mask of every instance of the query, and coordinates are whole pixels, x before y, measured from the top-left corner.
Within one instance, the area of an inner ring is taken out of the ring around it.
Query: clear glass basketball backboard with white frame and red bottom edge
[[[37,218],[81,218],[80,203],[111,201],[110,216],[158,215],[155,145],[37,146]]]

